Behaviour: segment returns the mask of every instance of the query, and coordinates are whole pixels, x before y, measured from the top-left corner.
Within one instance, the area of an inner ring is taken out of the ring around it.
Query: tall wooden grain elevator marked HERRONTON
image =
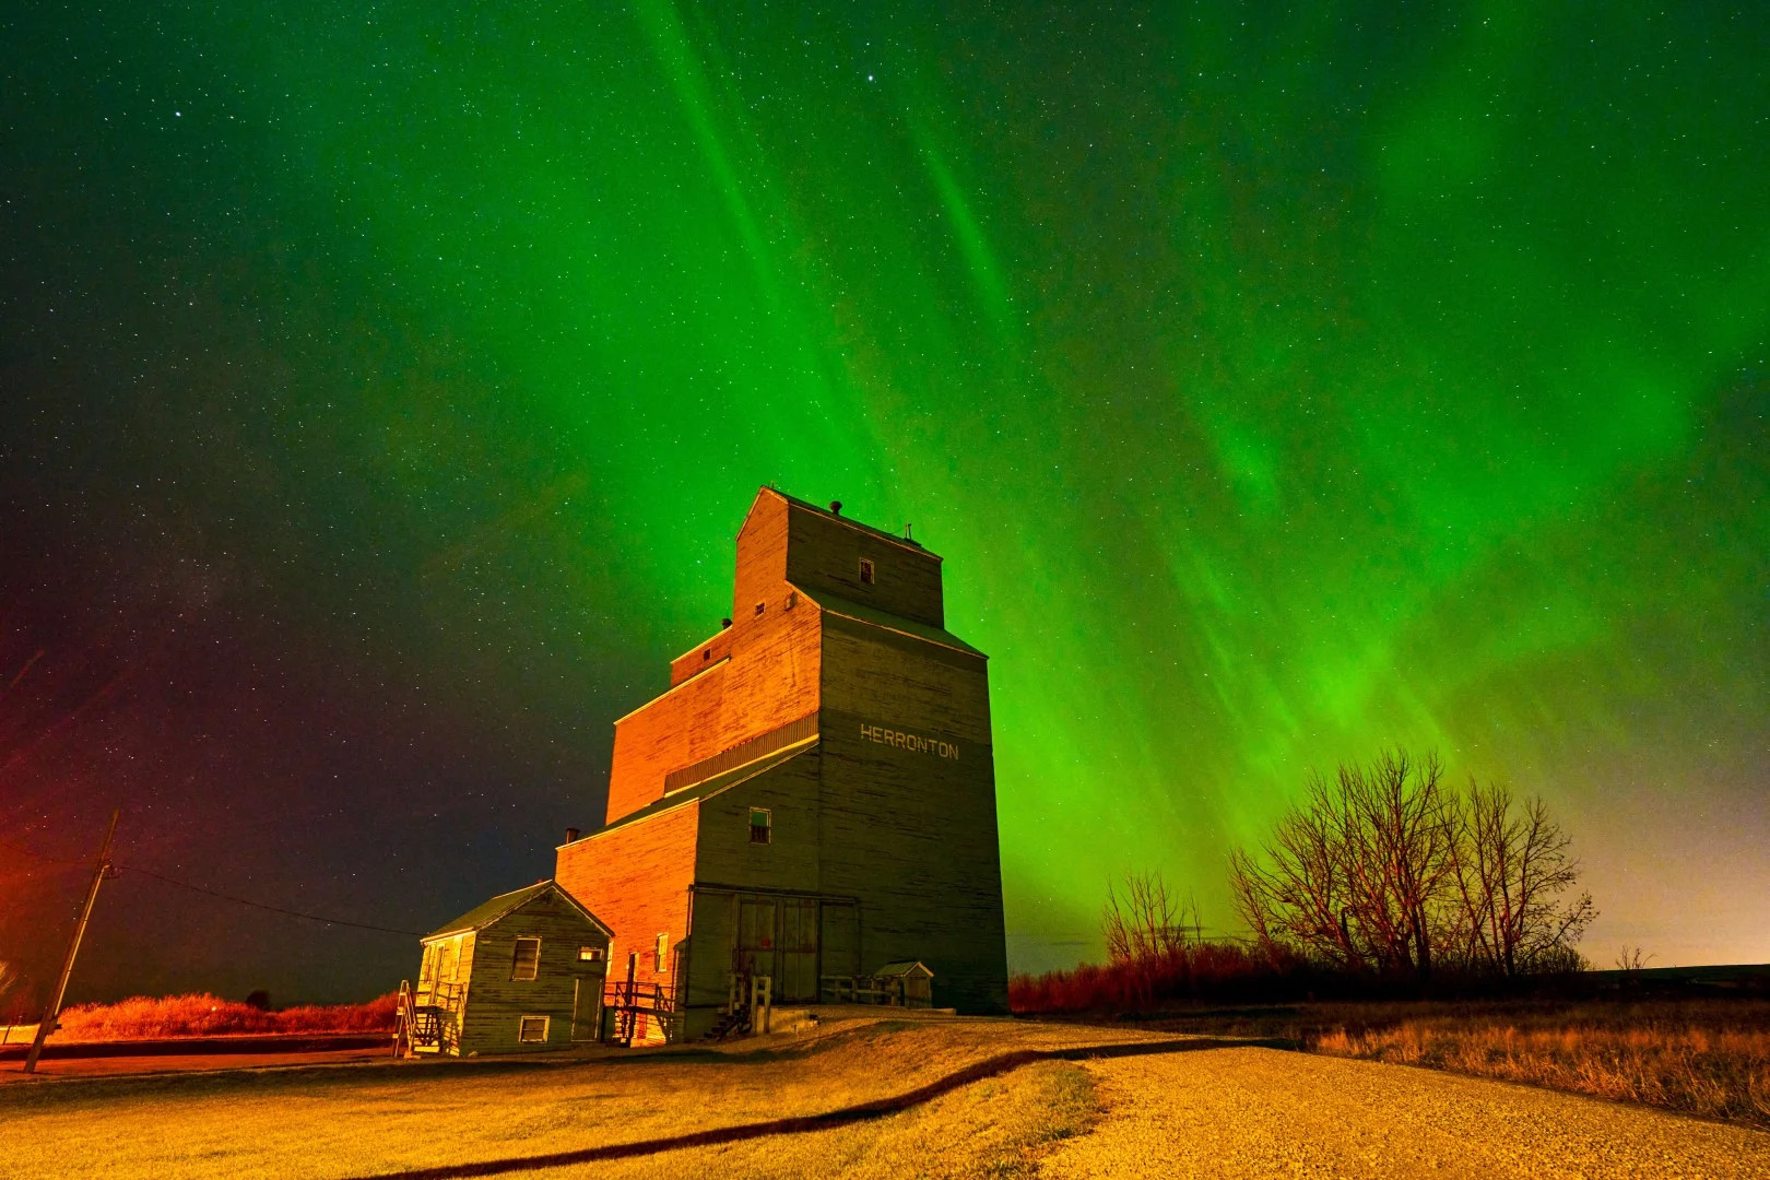
[[[614,724],[605,826],[554,879],[612,931],[611,980],[706,1031],[733,975],[777,1003],[917,961],[933,1003],[1007,1010],[986,656],[942,559],[763,488],[729,626]]]

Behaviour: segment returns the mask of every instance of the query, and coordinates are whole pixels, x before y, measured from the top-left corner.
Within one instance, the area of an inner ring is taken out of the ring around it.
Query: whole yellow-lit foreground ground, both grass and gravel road
[[[889,1099],[906,1100],[816,1118]],[[34,1178],[464,1164],[598,1180],[1770,1175],[1770,1134],[1745,1127],[1375,1061],[981,1019],[828,1021],[588,1060],[57,1074],[0,1086],[0,1175]],[[575,1157],[536,1168],[552,1153]]]

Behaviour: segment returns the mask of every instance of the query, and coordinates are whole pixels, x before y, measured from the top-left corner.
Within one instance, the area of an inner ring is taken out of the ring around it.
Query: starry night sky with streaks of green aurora
[[[1770,959],[1770,9],[949,7],[0,16],[0,959],[122,807],[73,1000],[412,975],[147,874],[550,874],[770,481],[947,559],[1016,968],[1384,743]]]

